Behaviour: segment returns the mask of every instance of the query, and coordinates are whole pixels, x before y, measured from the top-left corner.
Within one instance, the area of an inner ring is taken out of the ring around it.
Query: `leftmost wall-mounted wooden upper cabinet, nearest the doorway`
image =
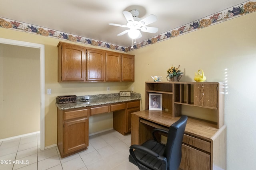
[[[58,44],[58,82],[84,82],[85,48]]]

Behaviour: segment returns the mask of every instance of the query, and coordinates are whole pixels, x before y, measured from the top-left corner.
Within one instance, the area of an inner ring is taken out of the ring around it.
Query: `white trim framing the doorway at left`
[[[40,149],[44,150],[44,107],[45,107],[45,95],[44,95],[44,45],[43,44],[36,44],[36,43],[28,43],[24,41],[16,41],[12,39],[4,39],[0,38],[0,43],[3,44],[10,44],[10,45],[18,45],[24,47],[32,47],[32,48],[39,48],[40,49],[40,84],[41,84],[41,109],[40,109]]]

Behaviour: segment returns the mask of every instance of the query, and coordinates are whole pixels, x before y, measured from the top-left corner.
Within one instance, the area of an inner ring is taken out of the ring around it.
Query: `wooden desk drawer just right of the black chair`
[[[206,152],[211,152],[211,143],[189,136],[189,135],[185,135],[183,136],[183,143],[190,145],[191,147],[195,147],[201,150],[204,150]]]

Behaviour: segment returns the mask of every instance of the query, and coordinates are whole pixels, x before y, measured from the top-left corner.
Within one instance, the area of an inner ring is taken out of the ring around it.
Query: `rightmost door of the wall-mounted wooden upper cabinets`
[[[122,82],[134,82],[134,55],[122,55]]]

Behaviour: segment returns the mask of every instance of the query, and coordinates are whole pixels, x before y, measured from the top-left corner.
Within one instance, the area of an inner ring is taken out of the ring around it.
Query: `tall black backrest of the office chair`
[[[182,139],[188,117],[182,115],[178,121],[173,123],[168,132],[165,155],[168,163],[168,170],[177,170],[181,161]]]

